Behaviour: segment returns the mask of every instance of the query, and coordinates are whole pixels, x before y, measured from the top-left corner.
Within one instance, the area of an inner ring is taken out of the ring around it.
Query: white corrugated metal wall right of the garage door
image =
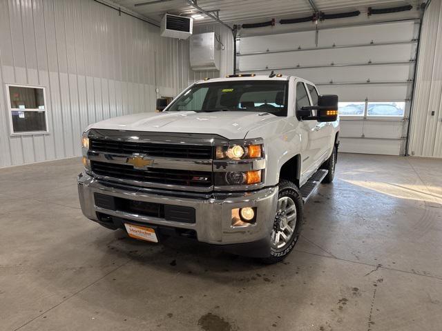
[[[410,146],[419,157],[442,157],[442,1],[425,12],[416,75]]]

